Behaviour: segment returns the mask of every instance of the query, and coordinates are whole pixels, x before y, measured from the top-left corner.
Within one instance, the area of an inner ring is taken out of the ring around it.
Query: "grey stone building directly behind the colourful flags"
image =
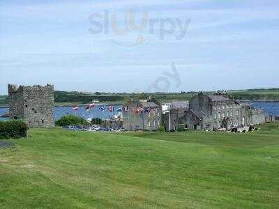
[[[151,101],[132,100],[123,107],[123,127],[130,131],[156,131],[161,125],[162,108]]]

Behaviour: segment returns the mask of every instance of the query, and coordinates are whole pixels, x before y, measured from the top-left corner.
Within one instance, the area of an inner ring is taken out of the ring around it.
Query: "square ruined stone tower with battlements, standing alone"
[[[54,86],[8,84],[10,118],[21,119],[29,127],[54,127]]]

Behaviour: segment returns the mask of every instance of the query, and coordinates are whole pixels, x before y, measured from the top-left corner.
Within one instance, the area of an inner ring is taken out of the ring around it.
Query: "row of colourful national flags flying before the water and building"
[[[87,106],[84,110],[85,111],[89,111],[90,109],[96,107],[95,104],[89,104],[89,106]],[[104,105],[99,105],[97,106],[98,107],[98,110],[99,111],[110,111],[110,112],[113,112],[115,109],[114,109],[114,106],[110,105],[108,107],[105,107]],[[78,111],[79,110],[79,107],[78,106],[75,106],[73,107],[73,111]],[[128,106],[125,106],[125,107],[119,107],[118,109],[116,109],[116,111],[125,111],[125,112],[128,112],[128,111],[132,111],[132,112],[135,112],[135,113],[150,113],[151,111],[153,112],[156,112],[157,109],[155,108],[151,108],[151,107],[146,107],[146,108],[142,108],[142,107],[132,107],[132,108],[129,108]]]

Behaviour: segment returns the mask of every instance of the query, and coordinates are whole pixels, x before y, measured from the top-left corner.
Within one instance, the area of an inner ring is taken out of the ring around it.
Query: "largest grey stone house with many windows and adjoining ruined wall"
[[[186,127],[192,130],[214,130],[233,126],[265,123],[266,112],[250,105],[236,102],[225,94],[204,95],[199,93],[190,99],[189,110],[184,116]]]

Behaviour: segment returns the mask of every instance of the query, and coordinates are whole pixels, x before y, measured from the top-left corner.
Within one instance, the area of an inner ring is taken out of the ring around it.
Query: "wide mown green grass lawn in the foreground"
[[[247,134],[34,129],[8,142],[0,208],[279,207],[273,123]]]

